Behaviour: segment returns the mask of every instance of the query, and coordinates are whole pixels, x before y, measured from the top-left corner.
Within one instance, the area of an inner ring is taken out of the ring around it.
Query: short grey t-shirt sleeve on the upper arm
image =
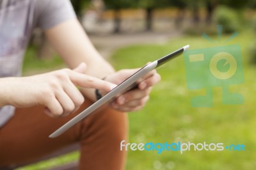
[[[36,25],[44,30],[76,18],[69,0],[38,0],[35,8]]]

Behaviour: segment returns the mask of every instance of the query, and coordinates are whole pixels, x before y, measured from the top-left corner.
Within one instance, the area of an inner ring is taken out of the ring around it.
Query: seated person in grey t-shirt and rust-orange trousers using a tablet
[[[34,27],[44,29],[68,68],[19,77]],[[160,79],[156,71],[138,89],[93,112],[60,137],[48,135],[95,102],[95,89],[98,96],[104,95],[134,72],[115,72],[100,57],[68,0],[0,0],[0,166],[26,164],[79,142],[79,169],[123,169],[125,152],[119,144],[127,138],[124,112],[143,108]]]

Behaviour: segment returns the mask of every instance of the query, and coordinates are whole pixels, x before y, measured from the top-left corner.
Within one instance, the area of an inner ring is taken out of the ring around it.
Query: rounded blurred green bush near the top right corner
[[[214,21],[222,25],[224,33],[233,33],[240,28],[239,17],[234,9],[227,6],[218,6],[214,12]]]

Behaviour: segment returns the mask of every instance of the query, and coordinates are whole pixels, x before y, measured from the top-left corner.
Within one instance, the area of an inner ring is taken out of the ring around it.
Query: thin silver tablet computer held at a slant
[[[127,78],[125,81],[121,82],[116,88],[112,89],[104,95],[104,97],[97,100],[97,102],[93,103],[89,107],[87,107],[83,112],[77,114],[72,120],[68,121],[63,125],[62,127],[58,128],[55,132],[53,132],[49,137],[54,138],[58,137],[59,135],[63,134],[68,128],[74,126],[77,122],[83,120],[86,116],[88,116],[90,113],[98,109],[100,106],[106,104],[109,102],[109,100],[115,98],[116,96],[124,93],[125,91],[128,91],[129,89],[135,88],[137,86],[136,81],[143,77],[143,75],[146,75],[148,72],[154,70],[155,68],[163,65],[167,61],[170,61],[170,59],[175,58],[179,54],[182,54],[184,50],[187,50],[189,48],[189,45],[186,45],[182,47],[181,49],[175,50],[175,52],[172,52],[163,58],[157,59],[156,61],[149,63],[148,65],[143,66],[140,70],[138,70],[136,73],[131,75],[129,78]]]

